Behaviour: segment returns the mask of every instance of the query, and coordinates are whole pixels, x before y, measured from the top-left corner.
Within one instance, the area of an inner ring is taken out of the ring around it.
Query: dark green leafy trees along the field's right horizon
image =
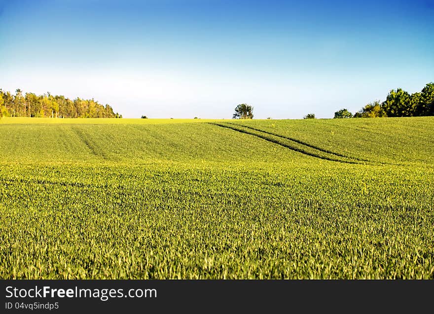
[[[434,115],[434,83],[428,83],[422,91],[409,94],[401,88],[391,90],[384,102],[374,101],[352,114],[343,108],[334,118],[418,117]]]

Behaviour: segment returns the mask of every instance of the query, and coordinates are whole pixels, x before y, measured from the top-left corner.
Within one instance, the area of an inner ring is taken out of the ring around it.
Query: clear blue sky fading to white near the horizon
[[[0,0],[0,88],[127,118],[330,118],[432,81],[433,0]]]

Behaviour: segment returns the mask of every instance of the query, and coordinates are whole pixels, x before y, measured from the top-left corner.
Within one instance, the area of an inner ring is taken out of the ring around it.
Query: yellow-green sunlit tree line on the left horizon
[[[36,95],[20,89],[15,95],[0,89],[0,116],[51,118],[122,118],[110,105],[101,105],[94,99],[75,98],[46,93]]]

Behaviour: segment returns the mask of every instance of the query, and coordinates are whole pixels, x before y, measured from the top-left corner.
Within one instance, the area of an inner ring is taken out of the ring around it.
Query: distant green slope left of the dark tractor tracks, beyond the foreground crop
[[[0,139],[0,145],[8,147],[0,152],[0,157],[7,161],[137,164],[253,159],[269,162],[276,158],[290,159],[293,155],[266,141],[234,135],[207,123],[12,124],[1,128],[9,134]]]

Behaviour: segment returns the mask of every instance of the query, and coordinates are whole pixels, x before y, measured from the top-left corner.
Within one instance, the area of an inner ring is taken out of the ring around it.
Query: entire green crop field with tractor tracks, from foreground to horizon
[[[2,279],[434,279],[434,117],[0,119]]]

